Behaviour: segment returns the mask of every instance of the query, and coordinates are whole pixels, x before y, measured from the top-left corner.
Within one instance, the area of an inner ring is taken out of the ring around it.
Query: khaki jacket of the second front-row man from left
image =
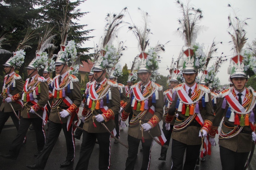
[[[26,86],[26,84],[28,84],[29,78],[26,80],[25,84],[24,84],[24,88]],[[40,77],[39,74],[37,74],[35,76],[34,79],[31,80],[31,82],[27,85],[27,88],[32,87],[35,83],[38,82],[38,85],[40,85],[40,89],[41,89],[41,93],[39,93],[39,95],[37,95],[37,104],[39,107],[44,107],[48,101],[48,84],[46,83],[45,79],[43,77]],[[33,92],[33,91],[32,91]],[[31,102],[23,102],[23,104],[30,108],[31,106],[33,106],[33,104]],[[27,111],[27,107],[23,107],[22,111],[21,111],[21,116],[23,118],[28,118],[28,114],[29,114],[29,118],[39,118],[38,115],[34,114],[34,113],[30,113],[29,111]],[[41,116],[43,116],[43,110],[39,109],[37,111],[37,113]]]

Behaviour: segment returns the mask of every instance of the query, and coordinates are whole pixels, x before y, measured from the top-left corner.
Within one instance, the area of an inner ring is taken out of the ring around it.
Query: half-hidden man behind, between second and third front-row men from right
[[[177,78],[179,73],[180,73],[179,69],[174,69],[173,70],[172,75],[169,79],[169,83],[168,83],[168,85],[170,84],[170,86],[169,86],[170,89],[163,92],[163,95],[165,95],[165,98],[166,98],[166,102],[165,102],[166,105],[165,105],[165,114],[163,115],[163,119],[162,119],[162,121],[163,121],[162,130],[163,130],[163,134],[165,135],[165,138],[167,140],[165,142],[165,145],[168,145],[168,146],[170,144],[173,125],[170,125],[171,130],[166,130],[166,128],[165,128],[166,121],[165,120],[166,120],[166,116],[168,114],[168,110],[170,108],[170,105],[172,103],[172,89],[180,83],[180,81]],[[160,153],[160,157],[158,158],[159,160],[166,160],[167,150],[168,150],[168,148],[165,148],[165,147],[161,146],[161,153]]]

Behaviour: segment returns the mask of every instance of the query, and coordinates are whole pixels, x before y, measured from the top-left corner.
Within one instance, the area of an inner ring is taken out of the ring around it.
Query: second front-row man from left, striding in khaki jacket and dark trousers
[[[24,106],[21,110],[21,118],[19,123],[18,133],[13,140],[10,148],[10,153],[1,155],[7,159],[16,159],[18,157],[21,144],[24,141],[28,127],[32,123],[34,126],[38,152],[40,153],[45,143],[45,133],[43,125],[46,123],[46,103],[48,101],[48,85],[43,77],[38,74],[40,56],[33,59],[26,67],[28,71],[28,78],[24,85],[24,93],[22,97],[17,94],[13,99],[22,99]]]

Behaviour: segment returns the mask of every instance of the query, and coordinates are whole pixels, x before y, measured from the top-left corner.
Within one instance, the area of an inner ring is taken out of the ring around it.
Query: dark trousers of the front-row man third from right
[[[150,167],[150,154],[153,139],[145,139],[143,143],[141,139],[134,138],[128,135],[128,158],[126,159],[125,169],[133,170],[137,160],[138,149],[140,141],[143,148],[143,160],[141,170],[149,169]]]

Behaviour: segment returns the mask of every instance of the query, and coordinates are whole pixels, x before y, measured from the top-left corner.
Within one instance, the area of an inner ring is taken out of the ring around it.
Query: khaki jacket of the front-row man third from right
[[[132,86],[132,88],[135,87],[135,86],[139,86],[139,89],[141,90],[140,84],[141,84],[141,82],[138,82],[138,83],[134,84]],[[152,86],[152,84],[154,84],[153,85],[154,87]],[[164,105],[164,103],[163,103],[164,97],[163,97],[162,86],[160,86],[159,84],[156,84],[154,82],[150,82],[148,84],[148,86],[144,89],[143,96],[147,97],[147,96],[153,95],[151,92],[153,91],[154,88],[158,89],[158,96],[159,96],[159,99],[156,100],[156,103],[152,103],[152,105],[155,107],[155,113],[151,114],[149,111],[147,111],[145,113],[145,116],[142,119],[142,122],[143,123],[147,123],[153,117],[155,118],[155,120],[157,119],[158,120],[157,121],[157,125],[155,125],[155,127],[150,129],[150,134],[153,137],[158,137],[158,136],[161,135],[161,130],[160,130],[159,122],[162,120],[162,117],[163,117],[163,105]],[[128,102],[128,104],[127,104],[127,106],[125,108],[125,112],[126,113],[130,113],[131,110],[133,109],[131,107],[131,102],[132,101]],[[134,137],[134,138],[142,139],[142,132],[140,130],[141,126],[140,126],[139,120],[137,122],[131,123],[137,117],[137,115],[139,115],[141,113],[141,111],[137,111],[137,110],[132,110],[132,111],[133,111],[133,116],[132,116],[131,121],[130,121],[129,129],[128,129],[128,134],[130,136]],[[144,139],[152,139],[150,134],[148,132],[144,132],[143,131]]]

